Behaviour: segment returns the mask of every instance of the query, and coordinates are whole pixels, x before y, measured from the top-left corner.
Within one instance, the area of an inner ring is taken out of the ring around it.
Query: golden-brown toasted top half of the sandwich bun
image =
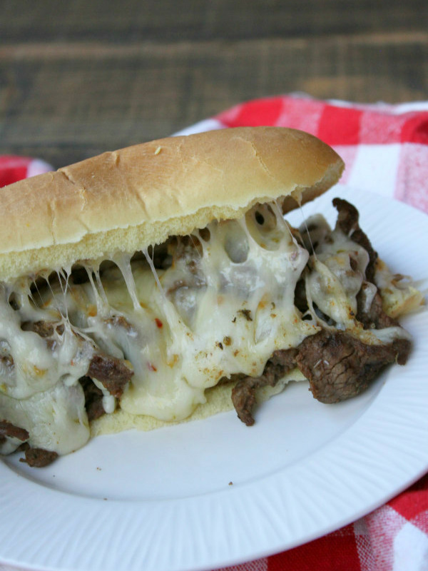
[[[1,189],[0,280],[133,253],[214,218],[335,184],[341,158],[302,131],[247,127],[103,153]]]

